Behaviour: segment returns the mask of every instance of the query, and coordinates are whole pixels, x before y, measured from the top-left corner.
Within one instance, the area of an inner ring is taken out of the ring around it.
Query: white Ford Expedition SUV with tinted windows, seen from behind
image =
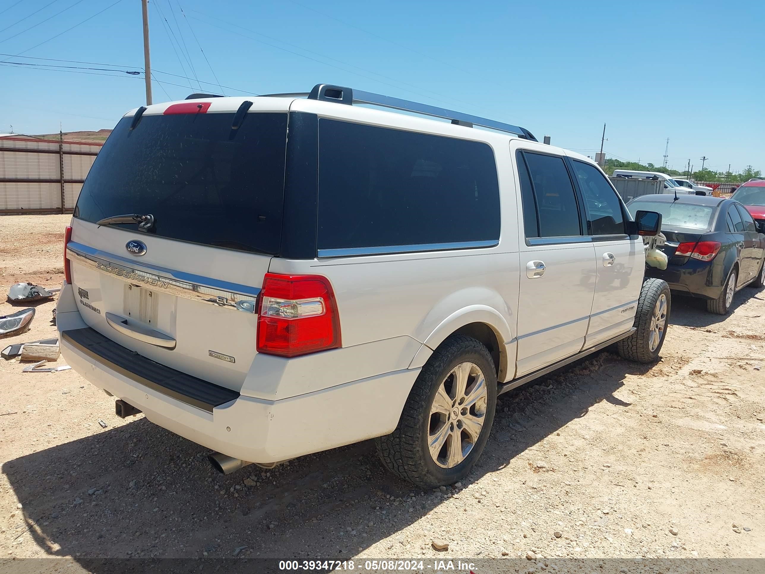
[[[376,439],[402,478],[451,484],[499,393],[614,343],[656,360],[670,295],[641,235],[660,226],[517,126],[325,84],[194,94],[103,146],[57,325],[119,416],[220,471]]]

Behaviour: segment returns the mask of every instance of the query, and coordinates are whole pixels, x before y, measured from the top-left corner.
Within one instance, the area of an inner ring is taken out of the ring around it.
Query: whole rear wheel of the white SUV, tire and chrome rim
[[[376,439],[382,462],[421,488],[467,476],[489,439],[496,371],[480,341],[452,335],[415,380],[399,426]]]

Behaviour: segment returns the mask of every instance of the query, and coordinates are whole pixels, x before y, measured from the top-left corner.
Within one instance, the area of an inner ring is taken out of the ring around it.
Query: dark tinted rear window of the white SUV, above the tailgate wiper
[[[152,214],[150,233],[275,255],[282,239],[286,113],[123,118],[83,184],[74,217]],[[119,227],[136,231],[135,225]]]

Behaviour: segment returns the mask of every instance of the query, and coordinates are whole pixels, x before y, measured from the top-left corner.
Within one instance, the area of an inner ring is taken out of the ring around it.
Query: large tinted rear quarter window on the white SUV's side
[[[321,119],[318,182],[319,249],[500,237],[485,143]]]

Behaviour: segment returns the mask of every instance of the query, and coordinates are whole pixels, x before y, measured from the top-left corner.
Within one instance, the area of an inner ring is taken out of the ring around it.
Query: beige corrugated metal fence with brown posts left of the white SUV
[[[0,138],[0,214],[71,213],[102,145]]]

